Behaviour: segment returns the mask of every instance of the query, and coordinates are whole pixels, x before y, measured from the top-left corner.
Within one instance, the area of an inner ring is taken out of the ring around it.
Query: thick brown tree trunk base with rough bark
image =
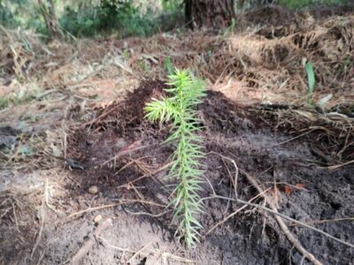
[[[234,0],[185,0],[185,15],[191,28],[228,27],[235,18]]]

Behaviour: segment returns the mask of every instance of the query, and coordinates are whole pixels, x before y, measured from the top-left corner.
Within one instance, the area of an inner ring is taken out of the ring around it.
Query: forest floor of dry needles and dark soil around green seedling
[[[265,7],[234,32],[47,44],[0,28],[0,264],[309,263],[287,229],[323,264],[354,264],[353,14]],[[166,208],[167,129],[142,110],[167,57],[209,89],[189,251]]]

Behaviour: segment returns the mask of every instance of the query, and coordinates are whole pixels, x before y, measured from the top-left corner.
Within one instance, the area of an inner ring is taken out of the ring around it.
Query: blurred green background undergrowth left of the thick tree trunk
[[[178,26],[178,20],[183,20],[181,1],[156,1],[153,9],[144,2],[54,1],[59,27],[77,37],[111,33],[119,37],[149,36],[173,29]],[[37,1],[0,1],[0,24],[12,28],[32,28],[37,33],[49,34]]]

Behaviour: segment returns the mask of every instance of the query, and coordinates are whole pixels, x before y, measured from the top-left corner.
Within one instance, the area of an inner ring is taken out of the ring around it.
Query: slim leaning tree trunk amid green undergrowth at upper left
[[[55,4],[53,0],[48,0],[48,4],[44,4],[42,0],[38,0],[38,4],[40,5],[45,26],[48,29],[50,38],[63,38],[64,34],[58,26]]]

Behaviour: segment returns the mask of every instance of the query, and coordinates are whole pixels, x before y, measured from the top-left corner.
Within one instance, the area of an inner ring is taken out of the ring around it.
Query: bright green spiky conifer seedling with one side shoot
[[[184,238],[186,246],[198,241],[202,225],[196,216],[203,212],[198,192],[202,189],[204,173],[199,161],[204,158],[201,121],[196,115],[196,105],[205,94],[204,82],[194,78],[187,70],[175,70],[168,76],[171,88],[165,89],[170,97],[152,99],[145,107],[146,117],[160,124],[172,122],[171,135],[165,140],[175,145],[169,177],[179,183],[173,191],[173,222],[178,223],[176,233]]]

